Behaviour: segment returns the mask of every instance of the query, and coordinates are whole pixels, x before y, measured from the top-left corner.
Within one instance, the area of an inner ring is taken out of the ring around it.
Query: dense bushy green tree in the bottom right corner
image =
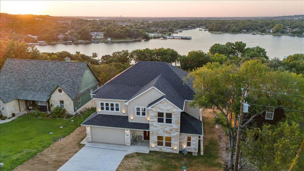
[[[264,125],[262,129],[247,130],[242,152],[259,170],[288,170],[304,138],[304,130],[295,122]],[[304,152],[292,170],[304,168]]]

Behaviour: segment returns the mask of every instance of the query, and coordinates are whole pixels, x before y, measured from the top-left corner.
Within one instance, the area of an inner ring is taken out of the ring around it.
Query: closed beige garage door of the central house
[[[91,138],[94,142],[125,144],[125,130],[107,127],[91,127]]]

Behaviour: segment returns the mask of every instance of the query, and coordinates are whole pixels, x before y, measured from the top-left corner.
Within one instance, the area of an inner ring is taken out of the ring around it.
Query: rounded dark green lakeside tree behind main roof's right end
[[[180,58],[181,69],[192,71],[196,68],[206,65],[208,62],[211,62],[209,55],[203,51],[191,51],[188,55],[183,55]]]

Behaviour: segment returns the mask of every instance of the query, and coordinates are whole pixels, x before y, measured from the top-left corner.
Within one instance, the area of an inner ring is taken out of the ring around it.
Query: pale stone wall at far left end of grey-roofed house
[[[24,100],[23,100],[24,101]],[[0,99],[1,114],[6,117],[12,117],[12,113],[19,113],[18,99],[3,103]]]

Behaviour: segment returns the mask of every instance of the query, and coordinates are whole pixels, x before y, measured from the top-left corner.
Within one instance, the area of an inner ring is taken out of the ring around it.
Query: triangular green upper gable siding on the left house
[[[96,79],[93,72],[87,66],[85,72],[82,75],[81,83],[79,85],[78,94],[85,91],[86,89],[92,87],[92,85],[97,84],[98,80]]]

